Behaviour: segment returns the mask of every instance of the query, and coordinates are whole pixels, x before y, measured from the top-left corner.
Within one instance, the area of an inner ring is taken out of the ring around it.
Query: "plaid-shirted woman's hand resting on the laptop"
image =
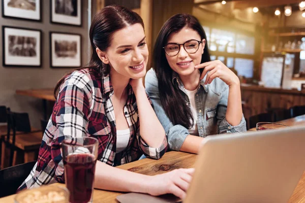
[[[171,193],[184,199],[194,171],[194,168],[179,168],[165,174],[151,176],[147,193],[154,196]]]

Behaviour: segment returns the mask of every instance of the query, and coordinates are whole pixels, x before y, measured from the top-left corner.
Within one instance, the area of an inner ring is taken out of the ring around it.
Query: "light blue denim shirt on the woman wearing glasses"
[[[197,127],[199,136],[204,138],[211,134],[245,132],[246,121],[242,116],[236,126],[230,125],[226,120],[229,86],[219,78],[215,78],[211,84],[204,85],[205,78],[200,81],[195,94],[197,112]],[[177,74],[173,75],[173,83],[177,83],[185,102],[190,107],[190,100],[186,94],[184,85]],[[156,115],[166,132],[167,141],[171,150],[179,151],[189,130],[182,125],[174,125],[167,117],[159,97],[158,79],[153,69],[145,76],[145,89],[154,105]]]

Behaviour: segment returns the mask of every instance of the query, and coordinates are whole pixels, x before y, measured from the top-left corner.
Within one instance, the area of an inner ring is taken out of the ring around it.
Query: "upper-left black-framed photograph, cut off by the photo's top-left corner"
[[[41,0],[1,0],[2,17],[41,21]]]

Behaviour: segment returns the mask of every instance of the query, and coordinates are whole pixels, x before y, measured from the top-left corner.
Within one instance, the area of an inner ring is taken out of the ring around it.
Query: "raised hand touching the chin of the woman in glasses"
[[[238,77],[220,60],[214,60],[195,65],[195,69],[203,69],[200,80],[202,80],[206,75],[204,84],[210,84],[215,78],[220,78],[229,87],[233,85],[239,86]]]

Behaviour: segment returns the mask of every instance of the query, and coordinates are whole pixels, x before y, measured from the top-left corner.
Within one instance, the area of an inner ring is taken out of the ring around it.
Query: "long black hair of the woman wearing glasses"
[[[165,50],[163,49],[168,42],[169,36],[184,27],[197,31],[201,40],[205,39],[201,63],[210,61],[206,35],[198,19],[189,14],[176,14],[164,23],[157,37],[154,47],[154,70],[158,78],[161,104],[166,115],[174,125],[180,124],[186,128],[191,128],[193,125],[191,110],[185,103],[185,98],[181,94],[178,85],[172,81],[173,70],[168,64]],[[200,69],[200,73],[202,71]]]

